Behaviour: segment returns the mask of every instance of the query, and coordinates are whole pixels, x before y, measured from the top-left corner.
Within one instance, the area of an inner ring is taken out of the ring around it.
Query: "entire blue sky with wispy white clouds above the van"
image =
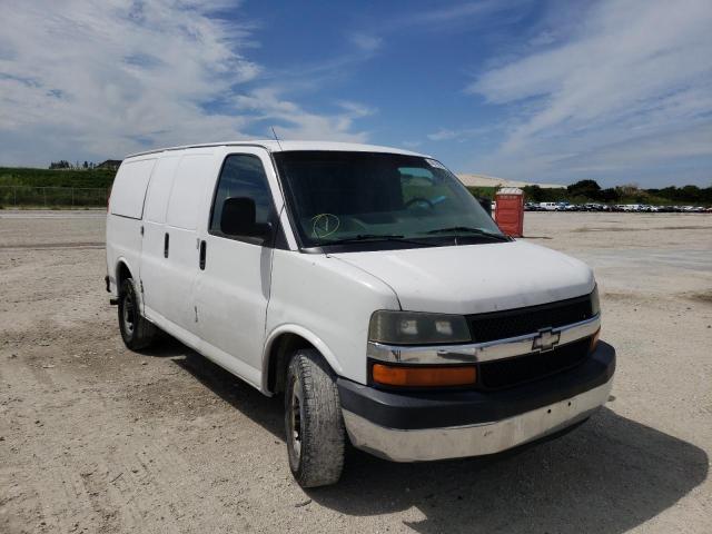
[[[2,2],[0,165],[265,138],[712,185],[708,0]]]

